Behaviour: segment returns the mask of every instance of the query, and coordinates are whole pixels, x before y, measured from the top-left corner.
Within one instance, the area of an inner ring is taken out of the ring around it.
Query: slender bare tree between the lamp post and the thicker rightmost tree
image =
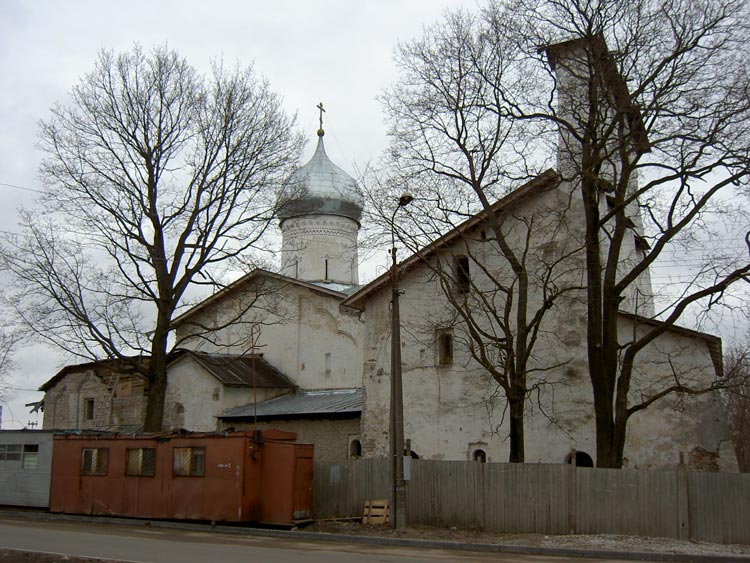
[[[549,244],[565,228],[567,202],[552,196],[531,210],[517,209],[524,197],[542,201],[545,192],[556,193],[557,176],[549,171],[501,199],[519,179],[534,177],[530,168],[539,164],[532,158],[535,136],[509,119],[512,108],[495,86],[518,76],[514,46],[488,35],[465,12],[448,14],[422,39],[399,46],[401,79],[383,96],[389,175],[371,208],[388,225],[385,202],[404,186],[417,196],[401,215],[406,222],[392,228],[419,252],[449,304],[440,318],[424,321],[455,328],[445,346],[467,350],[495,380],[507,401],[509,461],[523,462],[527,402],[548,383],[543,374],[563,361],[542,360],[535,346],[546,313],[580,284],[558,283],[558,268],[579,247]],[[480,219],[471,228],[456,230],[475,213]],[[450,246],[430,246],[446,232]],[[430,336],[428,328],[423,332]]]

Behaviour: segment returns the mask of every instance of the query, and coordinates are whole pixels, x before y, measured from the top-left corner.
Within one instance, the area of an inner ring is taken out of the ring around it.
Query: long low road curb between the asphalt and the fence
[[[413,538],[393,538],[382,536],[358,536],[349,534],[332,534],[326,532],[304,532],[299,530],[279,530],[270,528],[248,528],[244,526],[212,525],[207,523],[177,522],[171,520],[144,520],[140,518],[122,518],[117,516],[85,516],[77,514],[53,514],[43,511],[2,510],[0,518],[28,519],[39,521],[94,522],[133,527],[149,526],[188,531],[215,531],[224,534],[255,536],[265,538],[300,539],[307,541],[324,541],[336,543],[356,543],[394,547],[413,547],[424,549],[445,549],[455,551],[475,551],[483,553],[507,553],[518,555],[548,555],[559,557],[583,557],[598,559],[621,559],[626,561],[674,561],[679,563],[750,563],[747,555],[705,555],[663,552],[633,552],[602,549],[582,549],[568,547],[545,547],[515,544],[490,544],[474,542],[455,542],[440,540],[422,540]]]

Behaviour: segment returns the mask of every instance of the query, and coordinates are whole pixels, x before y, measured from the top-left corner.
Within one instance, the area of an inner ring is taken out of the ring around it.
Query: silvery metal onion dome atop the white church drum
[[[305,215],[338,215],[359,224],[364,196],[357,182],[328,158],[318,130],[318,147],[310,161],[296,170],[279,196],[279,217],[283,223]]]

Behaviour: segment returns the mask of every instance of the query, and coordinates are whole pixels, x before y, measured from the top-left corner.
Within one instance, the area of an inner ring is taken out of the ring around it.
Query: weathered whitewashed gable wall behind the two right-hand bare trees
[[[569,199],[568,195],[562,188],[526,202],[516,210],[518,215],[539,214],[549,221],[547,234],[532,241],[530,246],[532,272],[542,272],[539,265],[545,259],[553,259],[551,253],[563,255],[568,251],[575,244],[575,233],[581,232],[577,231],[582,223],[575,209],[572,213],[560,214],[561,202]],[[532,208],[532,204],[536,207]],[[557,218],[554,218],[555,213]],[[556,226],[556,220],[564,221],[564,225]],[[511,228],[507,221],[506,227]],[[519,234],[515,244],[521,241],[523,236]],[[465,245],[465,241],[457,243],[443,254],[448,258],[451,253],[463,254]],[[482,245],[485,248],[477,248]],[[490,269],[500,272],[500,277],[503,271],[507,272],[507,264],[488,243],[469,242],[469,248],[469,252],[481,257]],[[581,258],[576,256],[557,270],[554,279],[558,286],[584,285]],[[476,274],[474,279],[482,284],[481,274]],[[466,349],[468,340],[460,324],[453,327],[456,347],[453,363],[440,365],[438,362],[436,330],[450,325],[452,308],[435,276],[426,266],[418,266],[403,276],[400,288],[403,291],[400,305],[405,438],[411,440],[412,449],[420,457],[427,459],[471,459],[475,449],[482,449],[488,461],[507,461],[508,412],[504,395],[491,376],[470,357]],[[540,293],[532,291],[530,312],[537,310],[540,299]],[[389,302],[390,288],[385,287],[368,300],[365,312],[362,432],[365,455],[373,457],[387,455],[389,449]],[[621,335],[626,338],[632,333],[632,322],[623,319]],[[681,372],[694,373],[698,378],[711,378],[715,373],[704,341],[669,333],[639,356],[638,377],[641,381],[663,377],[663,368],[670,360]],[[526,409],[526,461],[560,463],[571,449],[585,451],[595,458],[582,289],[558,300],[546,313],[531,365],[555,367],[530,375],[529,386],[538,388]],[[679,462],[680,451],[690,452],[696,448],[718,451],[722,440],[720,424],[716,420],[708,423],[710,413],[715,413],[712,401],[715,398],[708,396],[686,397],[677,406],[665,400],[646,413],[636,415],[626,446],[629,466],[672,466]],[[687,457],[685,462],[689,462]]]

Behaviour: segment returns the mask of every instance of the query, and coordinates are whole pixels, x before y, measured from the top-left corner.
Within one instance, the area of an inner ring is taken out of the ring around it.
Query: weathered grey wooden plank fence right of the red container
[[[413,524],[501,533],[629,534],[750,544],[750,474],[412,460]],[[316,463],[315,518],[391,496],[387,459]]]

